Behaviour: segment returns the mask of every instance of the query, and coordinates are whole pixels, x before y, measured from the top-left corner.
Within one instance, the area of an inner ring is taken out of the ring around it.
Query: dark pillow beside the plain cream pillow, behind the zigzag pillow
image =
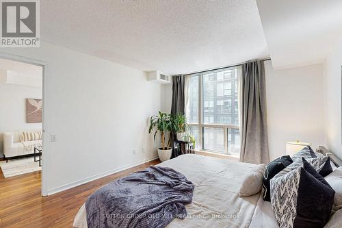
[[[292,163],[292,159],[289,155],[278,157],[276,160],[269,162],[263,173],[263,186],[262,186],[262,196],[264,201],[271,201],[269,194],[269,180],[272,179],[277,173],[286,168]]]

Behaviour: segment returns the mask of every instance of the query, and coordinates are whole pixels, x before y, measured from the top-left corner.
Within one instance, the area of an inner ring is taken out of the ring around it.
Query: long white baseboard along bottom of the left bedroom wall
[[[112,170],[106,171],[105,173],[100,173],[98,175],[94,175],[92,177],[87,177],[87,178],[81,179],[79,181],[74,181],[74,182],[71,182],[71,183],[67,183],[67,184],[64,184],[64,185],[62,185],[60,187],[52,188],[50,190],[47,190],[47,194],[51,195],[51,194],[55,194],[57,192],[62,192],[62,191],[68,190],[70,188],[74,188],[76,186],[80,186],[83,183],[88,183],[90,181],[94,181],[96,179],[100,179],[101,177],[105,177],[105,176],[108,176],[108,175],[111,175],[111,174],[114,174],[114,173],[118,173],[118,172],[120,172],[122,170],[125,170],[127,168],[132,168],[134,166],[139,166],[139,165],[144,164],[146,162],[150,162],[150,161],[156,160],[157,158],[158,158],[158,156],[150,158],[148,160],[143,160],[143,161],[140,161],[140,162],[135,162],[135,163],[132,163],[132,164],[128,164],[126,166],[121,166],[119,168],[114,168]]]

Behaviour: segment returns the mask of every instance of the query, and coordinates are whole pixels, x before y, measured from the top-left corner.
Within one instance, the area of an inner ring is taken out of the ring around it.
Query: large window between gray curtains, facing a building
[[[196,149],[239,154],[239,67],[187,76],[186,115]]]

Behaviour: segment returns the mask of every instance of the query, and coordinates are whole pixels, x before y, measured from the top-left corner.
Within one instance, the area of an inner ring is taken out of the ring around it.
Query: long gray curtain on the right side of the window
[[[267,164],[269,152],[263,61],[254,60],[242,64],[240,88],[240,162]]]

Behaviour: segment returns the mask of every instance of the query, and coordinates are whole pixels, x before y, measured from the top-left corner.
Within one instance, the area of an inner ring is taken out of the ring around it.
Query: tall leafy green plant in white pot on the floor
[[[158,148],[158,156],[161,162],[169,160],[172,155],[172,148],[170,147],[170,140],[168,144],[166,144],[165,134],[168,131],[172,130],[172,117],[170,114],[162,113],[159,111],[159,116],[151,116],[150,118],[150,127],[148,129],[148,133],[151,133],[155,129],[155,134],[153,135],[153,139],[155,140],[155,136],[158,131],[160,131],[161,136],[161,147]]]

